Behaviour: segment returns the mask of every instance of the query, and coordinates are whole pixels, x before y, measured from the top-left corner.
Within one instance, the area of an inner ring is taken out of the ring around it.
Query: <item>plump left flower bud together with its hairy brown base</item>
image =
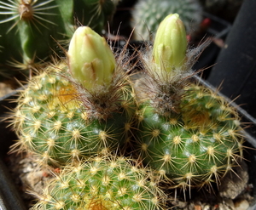
[[[129,101],[128,71],[123,71],[108,43],[95,31],[79,27],[67,57],[71,82],[88,108],[89,118],[106,120],[119,110],[121,101]]]

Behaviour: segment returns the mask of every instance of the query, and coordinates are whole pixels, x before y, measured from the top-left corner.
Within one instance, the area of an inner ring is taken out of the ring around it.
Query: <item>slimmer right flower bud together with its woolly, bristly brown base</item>
[[[186,49],[183,22],[178,14],[170,14],[160,24],[153,51],[143,55],[145,74],[136,86],[138,98],[150,100],[162,115],[178,111],[183,88],[193,75]]]

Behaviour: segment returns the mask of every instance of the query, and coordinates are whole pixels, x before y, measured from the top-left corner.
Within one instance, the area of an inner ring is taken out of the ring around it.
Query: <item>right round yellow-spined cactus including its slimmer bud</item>
[[[206,87],[189,81],[193,63],[186,32],[170,14],[144,57],[146,75],[137,81],[139,99],[136,151],[159,179],[183,190],[219,184],[242,156],[236,111]],[[193,57],[193,56],[192,56]]]

